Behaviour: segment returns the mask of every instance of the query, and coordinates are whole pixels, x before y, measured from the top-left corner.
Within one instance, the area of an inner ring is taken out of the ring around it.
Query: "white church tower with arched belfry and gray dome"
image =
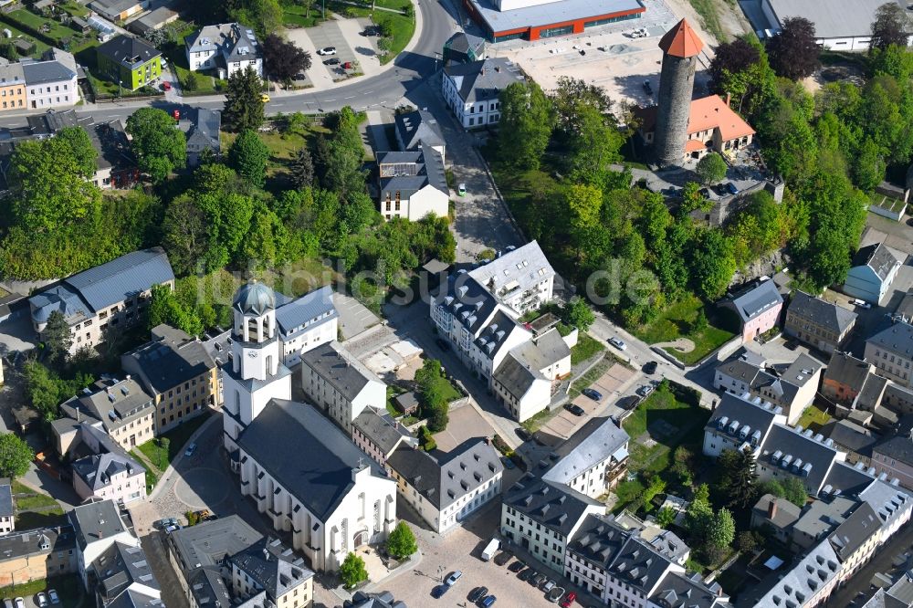
[[[237,436],[270,399],[291,399],[291,372],[282,364],[273,290],[251,280],[237,290],[232,309],[232,356],[222,368],[229,454],[237,450]]]

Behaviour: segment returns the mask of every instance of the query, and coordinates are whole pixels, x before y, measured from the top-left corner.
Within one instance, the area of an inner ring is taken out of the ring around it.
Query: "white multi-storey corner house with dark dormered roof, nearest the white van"
[[[568,541],[588,515],[604,512],[605,505],[593,498],[528,472],[502,497],[500,533],[563,574]]]

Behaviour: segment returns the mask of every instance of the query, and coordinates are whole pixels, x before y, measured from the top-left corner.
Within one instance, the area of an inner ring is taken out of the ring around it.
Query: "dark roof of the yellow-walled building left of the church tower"
[[[152,341],[121,355],[121,362],[125,370],[139,373],[153,394],[170,391],[215,369],[202,341],[168,325],[152,328]]]

